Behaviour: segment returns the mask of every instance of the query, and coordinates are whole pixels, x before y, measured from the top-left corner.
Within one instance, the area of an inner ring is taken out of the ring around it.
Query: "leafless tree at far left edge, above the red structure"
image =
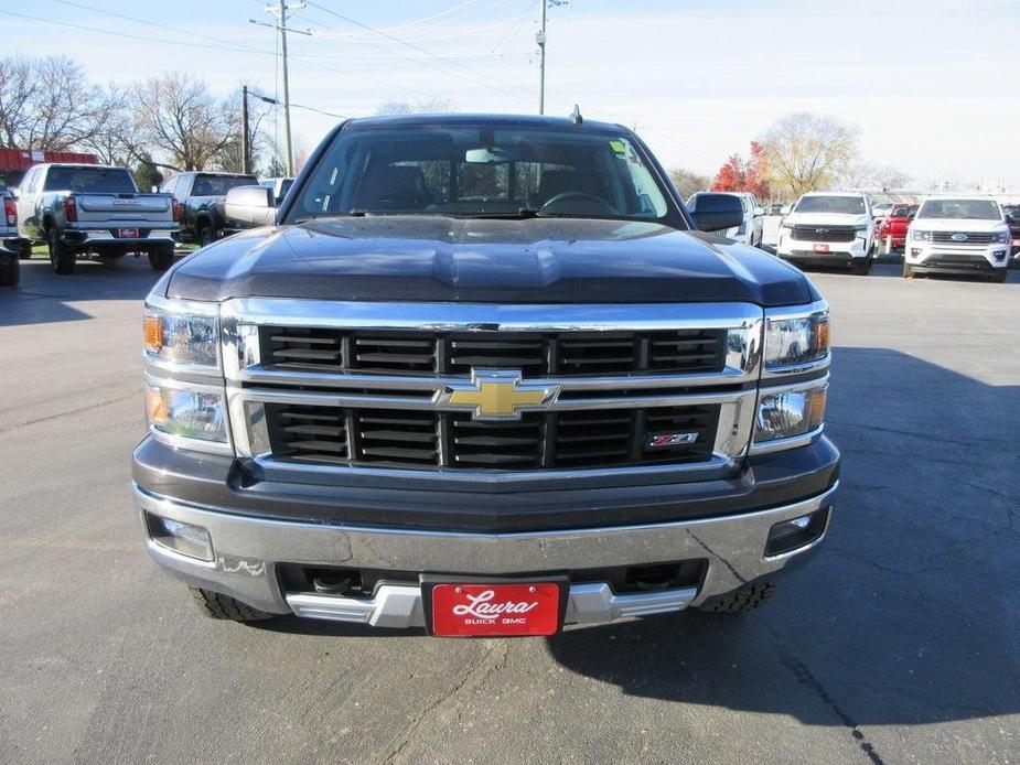
[[[107,94],[65,56],[0,60],[0,139],[8,148],[66,151],[110,114]]]

